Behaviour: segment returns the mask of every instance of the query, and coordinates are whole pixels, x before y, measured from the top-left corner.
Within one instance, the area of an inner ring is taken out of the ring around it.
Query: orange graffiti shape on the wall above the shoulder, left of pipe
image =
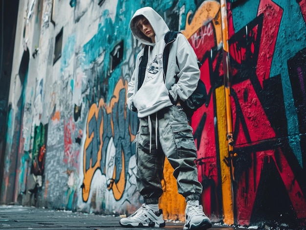
[[[188,18],[192,15],[192,12],[187,13],[185,30],[182,30],[182,34],[189,39],[193,34],[197,32],[203,25],[213,21],[215,28],[215,35],[217,45],[222,41],[222,29],[221,29],[221,16],[220,16],[220,4],[216,0],[204,1],[197,12],[193,16],[191,23],[188,23]]]

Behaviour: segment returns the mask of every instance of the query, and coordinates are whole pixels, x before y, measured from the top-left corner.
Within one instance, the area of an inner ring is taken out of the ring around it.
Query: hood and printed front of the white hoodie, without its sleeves
[[[139,15],[143,15],[151,24],[155,33],[155,43],[135,26],[135,17]],[[137,40],[149,45],[145,79],[138,91],[137,88],[134,88],[132,99],[134,106],[137,108],[138,117],[143,118],[172,105],[169,91],[164,82],[162,60],[165,48],[164,37],[169,28],[166,22],[151,7],[137,10],[131,19],[130,27],[133,36]],[[136,66],[136,68],[138,67]],[[137,83],[136,81],[138,82],[138,76],[135,76],[135,83]]]

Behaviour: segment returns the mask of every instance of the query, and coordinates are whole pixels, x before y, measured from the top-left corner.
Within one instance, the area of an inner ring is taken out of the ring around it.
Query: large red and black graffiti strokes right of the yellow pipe
[[[270,70],[282,15],[283,9],[273,1],[261,0],[258,17],[235,34],[229,32],[232,34],[229,54],[235,70],[232,72],[231,110],[236,151],[234,173],[238,175],[235,177],[236,218],[239,224],[248,225],[254,213],[260,213],[256,202],[264,200],[262,187],[268,189],[270,185],[262,185],[262,181],[269,180],[267,174],[273,171],[272,168],[279,175],[279,181],[283,183],[297,218],[306,218],[305,194],[284,150],[277,147],[278,130],[267,106],[271,103],[265,101],[265,95],[269,95],[269,90],[272,90],[269,84],[277,79],[270,78]],[[231,13],[229,17],[228,21],[232,23]],[[234,26],[230,24],[229,28],[233,29]],[[282,88],[273,90],[282,91]]]

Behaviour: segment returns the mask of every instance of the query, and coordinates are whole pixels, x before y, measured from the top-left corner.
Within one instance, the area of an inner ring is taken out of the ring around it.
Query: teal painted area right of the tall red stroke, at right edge
[[[293,102],[292,88],[290,80],[288,78],[288,65],[287,59],[284,57],[293,57],[300,51],[301,47],[305,47],[306,36],[306,24],[303,15],[300,10],[300,6],[297,2],[283,1],[283,0],[273,0],[281,8],[284,9],[282,16],[282,21],[279,28],[278,38],[275,44],[275,51],[273,55],[270,77],[281,74],[282,85],[284,91],[284,104],[287,117],[287,128],[289,135],[289,144],[292,148],[295,156],[299,160],[300,165],[302,165],[302,149],[299,137],[299,127],[298,127],[298,117],[296,113],[296,108]],[[293,13],[294,12],[294,13]],[[293,26],[293,24],[294,26]],[[290,38],[290,43],[288,39]],[[286,47],[286,49],[284,49]]]

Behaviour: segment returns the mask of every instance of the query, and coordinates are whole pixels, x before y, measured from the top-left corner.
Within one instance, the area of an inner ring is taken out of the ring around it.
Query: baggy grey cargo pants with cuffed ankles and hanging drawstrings
[[[157,204],[163,193],[161,179],[165,156],[174,168],[178,193],[186,201],[199,200],[202,185],[198,181],[195,164],[197,148],[185,112],[173,105],[151,115],[150,119],[139,119],[136,144],[137,186],[145,203]]]

